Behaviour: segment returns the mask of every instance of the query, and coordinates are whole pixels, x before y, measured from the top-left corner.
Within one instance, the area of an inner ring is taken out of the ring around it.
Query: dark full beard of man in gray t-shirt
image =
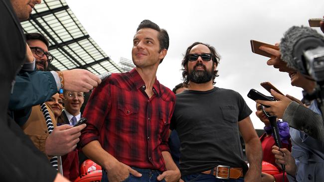
[[[202,66],[205,70],[196,70],[197,66]],[[213,68],[212,68],[213,69]],[[203,84],[209,82],[213,77],[212,72],[206,71],[206,66],[203,65],[202,63],[197,63],[194,67],[193,70],[189,73],[187,79],[190,82],[196,83],[196,84]]]

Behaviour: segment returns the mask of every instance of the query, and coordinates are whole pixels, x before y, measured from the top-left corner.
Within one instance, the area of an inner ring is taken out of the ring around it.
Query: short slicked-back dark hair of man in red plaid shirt
[[[160,51],[159,53],[163,50],[163,49],[168,49],[169,48],[169,35],[167,34],[166,30],[163,28],[160,28],[159,25],[157,25],[156,23],[152,22],[151,20],[145,19],[143,20],[139,27],[137,27],[137,32],[142,29],[142,28],[152,28],[154,30],[157,30],[159,32],[158,35],[158,39],[159,39],[159,43],[160,43]],[[160,61],[160,64],[162,63],[163,58]]]

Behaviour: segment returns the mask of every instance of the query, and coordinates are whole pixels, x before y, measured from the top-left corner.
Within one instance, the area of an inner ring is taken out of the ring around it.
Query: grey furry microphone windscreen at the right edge
[[[293,26],[289,28],[284,37],[281,39],[279,48],[281,52],[281,59],[287,63],[287,66],[295,70],[300,70],[296,63],[297,55],[294,55],[295,45],[305,38],[317,38],[324,42],[324,37],[319,34],[316,30],[310,27],[304,26]]]

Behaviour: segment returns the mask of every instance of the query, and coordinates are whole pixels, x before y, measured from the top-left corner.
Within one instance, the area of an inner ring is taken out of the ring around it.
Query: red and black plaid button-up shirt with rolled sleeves
[[[136,69],[112,74],[91,94],[83,117],[80,146],[98,140],[109,154],[131,167],[165,171],[162,151],[167,146],[168,129],[175,95],[155,81],[151,98]]]

